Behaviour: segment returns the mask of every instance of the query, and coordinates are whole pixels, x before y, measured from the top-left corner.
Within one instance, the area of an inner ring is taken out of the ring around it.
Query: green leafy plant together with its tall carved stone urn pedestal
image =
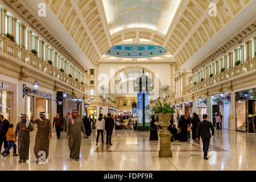
[[[158,155],[160,158],[172,158],[171,152],[171,134],[167,130],[170,125],[171,115],[175,113],[175,108],[171,107],[170,104],[162,105],[158,100],[155,102],[155,107],[152,108],[152,113],[159,115],[159,124],[162,126],[163,130],[160,130],[160,150]]]

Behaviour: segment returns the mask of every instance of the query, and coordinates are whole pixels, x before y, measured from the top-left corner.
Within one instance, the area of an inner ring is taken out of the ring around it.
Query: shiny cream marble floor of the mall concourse
[[[201,143],[172,142],[172,158],[158,158],[159,141],[149,141],[149,132],[115,130],[113,146],[96,146],[96,131],[82,139],[80,161],[69,159],[68,139],[61,132],[50,141],[47,164],[37,164],[35,137],[31,137],[30,160],[18,163],[19,157],[0,156],[0,170],[256,170],[255,134],[216,131],[210,141],[209,156],[203,160]],[[211,154],[213,153],[213,154]]]

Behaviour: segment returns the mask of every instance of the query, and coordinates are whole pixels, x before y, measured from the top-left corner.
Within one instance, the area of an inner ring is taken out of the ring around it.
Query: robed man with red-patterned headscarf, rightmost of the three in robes
[[[82,119],[79,118],[78,110],[75,109],[72,111],[71,118],[69,118],[67,123],[67,138],[70,150],[69,158],[77,161],[80,159],[81,133],[83,133],[84,138],[86,138],[84,123]]]

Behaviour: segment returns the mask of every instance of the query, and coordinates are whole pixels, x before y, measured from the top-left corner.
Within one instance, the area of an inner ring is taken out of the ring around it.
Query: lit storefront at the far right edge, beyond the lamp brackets
[[[236,130],[255,133],[256,88],[236,92]]]

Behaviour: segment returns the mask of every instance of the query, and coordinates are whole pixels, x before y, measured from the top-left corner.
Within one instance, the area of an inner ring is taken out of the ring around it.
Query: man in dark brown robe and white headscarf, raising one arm
[[[38,131],[36,132],[34,147],[36,159],[40,158],[40,155],[38,155],[39,151],[46,152],[46,159],[49,154],[49,139],[52,138],[52,130],[51,121],[49,121],[49,119],[46,119],[45,114],[46,112],[41,111],[39,113],[39,119],[34,119],[34,115],[31,117],[31,123],[38,124]],[[39,161],[36,160],[36,163],[39,163]]]

